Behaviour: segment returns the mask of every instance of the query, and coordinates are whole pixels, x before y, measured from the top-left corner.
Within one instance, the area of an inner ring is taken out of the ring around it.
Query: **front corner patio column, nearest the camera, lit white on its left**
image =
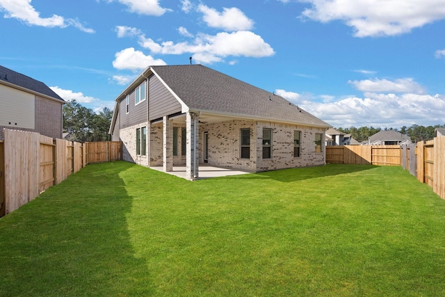
[[[199,121],[197,113],[187,113],[187,154],[186,154],[186,178],[197,179],[199,173],[200,151],[198,148]]]

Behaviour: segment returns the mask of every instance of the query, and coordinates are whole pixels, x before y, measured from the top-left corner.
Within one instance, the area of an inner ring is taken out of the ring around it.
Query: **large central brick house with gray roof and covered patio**
[[[252,172],[325,164],[330,125],[274,93],[203,65],[147,67],[115,99],[109,133],[143,166]]]

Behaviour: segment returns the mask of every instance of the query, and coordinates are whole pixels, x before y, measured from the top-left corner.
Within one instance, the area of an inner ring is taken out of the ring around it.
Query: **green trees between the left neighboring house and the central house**
[[[75,99],[63,105],[63,132],[70,141],[111,141],[110,129],[113,111],[105,107],[99,113],[87,109]]]

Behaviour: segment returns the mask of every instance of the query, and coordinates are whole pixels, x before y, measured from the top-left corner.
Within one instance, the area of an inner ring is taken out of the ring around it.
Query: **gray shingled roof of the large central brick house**
[[[152,66],[152,70],[191,110],[330,127],[283,97],[203,65]]]

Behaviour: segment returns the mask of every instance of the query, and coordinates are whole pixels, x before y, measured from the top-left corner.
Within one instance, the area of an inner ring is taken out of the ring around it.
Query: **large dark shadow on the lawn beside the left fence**
[[[87,166],[0,220],[0,296],[149,296],[117,162]]]

